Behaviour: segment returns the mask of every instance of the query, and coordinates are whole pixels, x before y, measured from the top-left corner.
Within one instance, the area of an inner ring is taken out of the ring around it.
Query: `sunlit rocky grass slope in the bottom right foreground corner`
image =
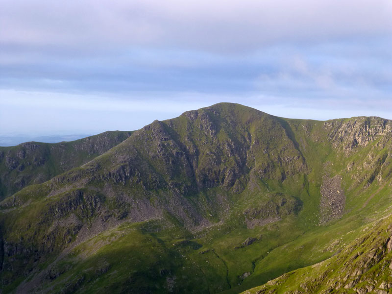
[[[362,231],[360,238],[330,259],[285,273],[243,294],[391,293],[392,217]]]

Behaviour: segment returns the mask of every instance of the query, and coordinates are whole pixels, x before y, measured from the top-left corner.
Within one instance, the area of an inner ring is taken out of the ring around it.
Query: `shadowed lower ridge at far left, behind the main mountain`
[[[80,166],[121,143],[130,134],[113,131],[73,142],[27,142],[0,147],[0,199]]]

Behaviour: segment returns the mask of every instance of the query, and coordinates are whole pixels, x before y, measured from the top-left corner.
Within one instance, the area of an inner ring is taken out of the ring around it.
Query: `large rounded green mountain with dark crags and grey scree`
[[[390,214],[391,137],[233,103],[154,121],[0,202],[2,291],[240,293],[337,258]]]

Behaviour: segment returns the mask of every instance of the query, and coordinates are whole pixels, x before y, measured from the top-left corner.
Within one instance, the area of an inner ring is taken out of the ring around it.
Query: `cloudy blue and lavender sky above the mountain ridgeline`
[[[391,0],[0,7],[0,136],[135,130],[218,102],[392,119]]]

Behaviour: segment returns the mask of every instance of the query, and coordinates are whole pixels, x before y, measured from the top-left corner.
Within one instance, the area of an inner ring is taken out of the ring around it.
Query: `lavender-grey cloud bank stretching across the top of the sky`
[[[1,0],[0,42],[257,49],[392,32],[390,0]]]

